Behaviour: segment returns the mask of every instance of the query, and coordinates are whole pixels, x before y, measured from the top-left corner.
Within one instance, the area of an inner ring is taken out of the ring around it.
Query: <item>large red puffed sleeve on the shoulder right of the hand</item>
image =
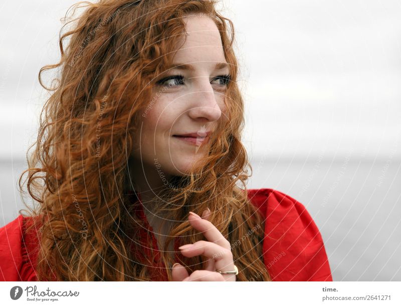
[[[305,206],[271,188],[248,189],[265,219],[263,259],[278,281],[332,281],[320,231]]]

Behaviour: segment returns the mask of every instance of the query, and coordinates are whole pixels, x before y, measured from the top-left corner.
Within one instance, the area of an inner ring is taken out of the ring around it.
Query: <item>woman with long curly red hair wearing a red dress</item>
[[[25,171],[39,204],[0,229],[0,277],[332,280],[305,207],[246,189],[233,25],[214,1],[85,4],[39,74],[60,69]]]

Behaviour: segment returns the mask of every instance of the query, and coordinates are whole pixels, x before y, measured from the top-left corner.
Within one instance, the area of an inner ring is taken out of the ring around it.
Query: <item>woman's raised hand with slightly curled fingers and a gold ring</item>
[[[204,270],[193,271],[190,275],[185,267],[175,263],[172,267],[173,281],[235,281],[235,274],[221,274],[220,271],[233,271],[234,261],[231,253],[231,244],[223,234],[208,220],[210,210],[205,210],[202,218],[190,212],[189,223],[193,228],[202,232],[208,241],[199,240],[192,244],[179,247],[186,257],[204,255],[208,258],[204,264]]]

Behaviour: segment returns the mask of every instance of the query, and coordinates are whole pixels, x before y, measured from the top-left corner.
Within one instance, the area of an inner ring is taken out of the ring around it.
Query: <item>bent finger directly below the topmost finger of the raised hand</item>
[[[215,267],[221,271],[234,270],[233,254],[230,250],[217,245],[216,243],[199,240],[192,244],[186,244],[179,247],[182,255],[193,257],[204,255],[215,261]]]

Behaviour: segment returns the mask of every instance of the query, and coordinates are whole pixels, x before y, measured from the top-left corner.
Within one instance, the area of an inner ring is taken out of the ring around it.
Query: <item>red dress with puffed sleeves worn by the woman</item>
[[[136,196],[130,195],[134,201]],[[263,259],[272,280],[332,281],[319,229],[300,202],[270,188],[248,189],[248,198],[266,219]],[[146,221],[140,202],[134,211],[147,227],[136,233],[143,238],[145,253],[150,251],[150,247],[157,250],[156,238]],[[25,232],[30,222],[33,222],[31,217],[19,215],[0,228],[0,280],[37,280],[34,267],[38,253],[38,236],[36,233]],[[146,247],[149,236],[152,240],[151,246]],[[179,245],[175,243],[174,246],[176,248]],[[157,259],[156,256],[155,260]],[[161,276],[166,279],[165,275]]]

